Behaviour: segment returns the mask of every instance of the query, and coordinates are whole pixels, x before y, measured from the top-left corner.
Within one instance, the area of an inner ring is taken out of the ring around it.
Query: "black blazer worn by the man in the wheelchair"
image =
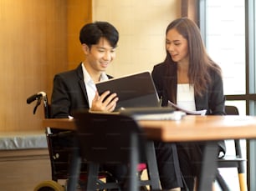
[[[74,110],[89,108],[81,63],[74,70],[54,76],[51,118],[68,118]]]

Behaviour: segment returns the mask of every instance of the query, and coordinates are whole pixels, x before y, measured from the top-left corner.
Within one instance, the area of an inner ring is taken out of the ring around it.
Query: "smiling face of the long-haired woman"
[[[166,50],[176,63],[188,63],[187,39],[175,28],[166,33]]]

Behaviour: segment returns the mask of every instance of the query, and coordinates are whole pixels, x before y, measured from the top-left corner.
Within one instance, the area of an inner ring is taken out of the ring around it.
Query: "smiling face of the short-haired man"
[[[84,65],[90,72],[105,72],[115,58],[115,48],[105,38],[100,38],[99,43],[91,45],[90,48],[86,44],[82,46],[86,55]]]

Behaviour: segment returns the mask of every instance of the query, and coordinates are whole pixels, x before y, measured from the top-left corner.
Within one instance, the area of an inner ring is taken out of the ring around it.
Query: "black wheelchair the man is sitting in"
[[[36,113],[38,106],[43,102],[44,104],[44,118],[50,118],[50,105],[48,103],[47,94],[39,92],[27,98],[27,103],[36,101],[33,108],[33,114]],[[71,160],[73,152],[77,151],[74,132],[67,130],[60,130],[54,128],[45,128],[46,139],[49,149],[49,158],[51,165],[52,179],[38,183],[33,189],[34,191],[65,191],[68,190],[69,169],[71,168]],[[77,190],[85,190],[86,183],[86,163],[81,164],[79,174],[79,183]],[[102,171],[98,179],[98,183],[116,182],[111,173]],[[61,183],[64,183],[62,185]]]

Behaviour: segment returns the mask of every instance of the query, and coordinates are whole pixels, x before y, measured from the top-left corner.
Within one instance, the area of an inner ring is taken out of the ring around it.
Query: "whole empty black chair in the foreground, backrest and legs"
[[[80,161],[85,160],[89,167],[85,190],[118,188],[136,191],[146,185],[160,190],[153,142],[146,141],[142,129],[133,118],[115,113],[79,111],[74,113],[74,119]],[[108,163],[129,165],[125,185],[118,182],[96,183],[100,164]],[[147,180],[140,179],[139,163],[146,163]]]

